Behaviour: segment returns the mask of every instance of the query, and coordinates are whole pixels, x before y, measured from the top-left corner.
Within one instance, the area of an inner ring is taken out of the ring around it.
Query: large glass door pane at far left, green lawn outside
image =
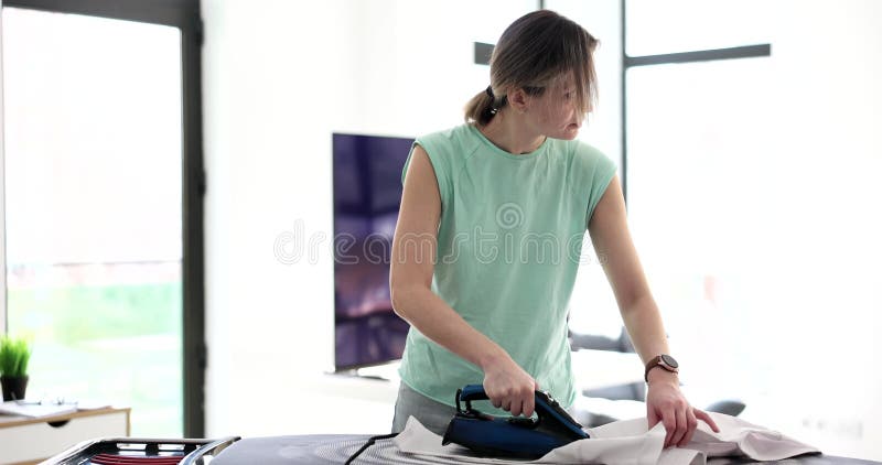
[[[28,396],[182,420],[181,36],[3,8],[9,332]]]

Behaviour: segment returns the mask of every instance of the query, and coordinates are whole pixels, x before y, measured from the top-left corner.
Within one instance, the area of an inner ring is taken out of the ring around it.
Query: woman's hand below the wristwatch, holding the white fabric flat
[[[708,423],[717,433],[720,429],[707,412],[686,401],[680,392],[677,375],[662,369],[649,372],[649,390],[646,393],[646,419],[652,430],[659,421],[665,425],[665,448],[682,447],[692,440],[698,420]]]

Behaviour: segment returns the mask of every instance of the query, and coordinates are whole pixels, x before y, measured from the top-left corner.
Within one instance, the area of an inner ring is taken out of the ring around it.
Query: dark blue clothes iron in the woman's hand
[[[539,458],[553,448],[589,437],[547,392],[536,391],[536,419],[493,417],[472,408],[472,401],[487,399],[481,385],[458,389],[456,414],[441,444],[456,443],[484,456]]]

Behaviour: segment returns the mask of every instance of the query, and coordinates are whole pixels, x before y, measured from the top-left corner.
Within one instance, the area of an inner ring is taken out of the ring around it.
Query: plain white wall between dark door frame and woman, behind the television
[[[490,80],[473,43],[535,7],[203,1],[208,435],[340,432],[337,418],[297,421],[319,405],[357,411],[348,431],[389,426],[395,386],[322,376],[333,366],[331,134],[458,125]],[[323,238],[314,257],[277,258],[292,234],[304,248]]]

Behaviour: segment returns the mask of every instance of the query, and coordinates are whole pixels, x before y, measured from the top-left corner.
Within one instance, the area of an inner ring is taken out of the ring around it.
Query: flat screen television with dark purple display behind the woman
[[[401,170],[413,139],[333,134],[334,364],[398,360],[409,325],[395,314],[389,262]]]

